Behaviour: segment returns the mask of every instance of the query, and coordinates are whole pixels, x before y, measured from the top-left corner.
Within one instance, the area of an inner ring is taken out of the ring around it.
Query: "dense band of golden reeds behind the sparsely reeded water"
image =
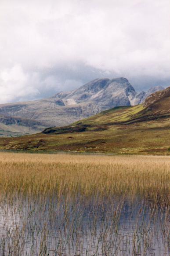
[[[0,154],[0,192],[170,193],[170,157]]]

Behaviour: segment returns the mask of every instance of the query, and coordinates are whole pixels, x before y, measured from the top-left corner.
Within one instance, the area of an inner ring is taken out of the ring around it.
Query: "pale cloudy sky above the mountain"
[[[170,85],[170,0],[0,0],[0,103],[100,77]]]

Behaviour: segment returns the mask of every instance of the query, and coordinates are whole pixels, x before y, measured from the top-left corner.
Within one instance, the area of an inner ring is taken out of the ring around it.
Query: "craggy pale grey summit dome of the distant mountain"
[[[63,100],[66,106],[92,102],[101,110],[115,106],[130,106],[136,92],[126,78],[95,79],[69,94],[55,95]]]

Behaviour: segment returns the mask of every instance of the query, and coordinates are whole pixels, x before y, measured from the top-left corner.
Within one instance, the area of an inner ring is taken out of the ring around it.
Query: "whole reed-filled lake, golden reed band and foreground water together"
[[[170,157],[0,153],[0,255],[168,255]]]

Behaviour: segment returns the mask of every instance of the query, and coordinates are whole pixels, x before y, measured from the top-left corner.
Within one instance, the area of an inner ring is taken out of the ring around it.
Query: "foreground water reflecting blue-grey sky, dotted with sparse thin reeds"
[[[165,256],[168,214],[166,202],[139,196],[7,197],[0,255]]]

